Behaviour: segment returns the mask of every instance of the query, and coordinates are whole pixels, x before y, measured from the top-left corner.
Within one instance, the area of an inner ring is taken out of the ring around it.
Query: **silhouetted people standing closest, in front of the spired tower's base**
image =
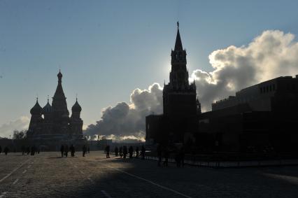
[[[185,158],[185,149],[183,146],[180,148],[175,148],[174,150],[170,150],[169,146],[162,146],[159,144],[157,146],[157,166],[161,167],[168,167],[169,156],[170,153],[175,154],[175,162],[177,167],[184,167],[184,158]],[[162,163],[162,158],[164,158],[164,162]]]

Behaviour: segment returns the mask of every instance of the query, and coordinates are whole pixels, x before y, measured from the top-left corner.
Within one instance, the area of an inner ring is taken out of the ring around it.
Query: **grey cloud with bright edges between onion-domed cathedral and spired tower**
[[[150,113],[162,113],[162,87],[154,83],[148,90],[136,88],[130,94],[130,103],[120,102],[104,108],[101,120],[89,125],[85,134],[106,135],[113,139],[143,139],[145,136],[145,117]],[[113,135],[113,136],[111,136]]]

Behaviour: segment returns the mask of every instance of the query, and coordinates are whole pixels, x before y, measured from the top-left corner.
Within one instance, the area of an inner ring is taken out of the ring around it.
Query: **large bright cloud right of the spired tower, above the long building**
[[[247,46],[231,45],[209,55],[212,72],[192,72],[204,111],[211,103],[236,91],[278,76],[298,74],[298,43],[295,35],[267,30]]]

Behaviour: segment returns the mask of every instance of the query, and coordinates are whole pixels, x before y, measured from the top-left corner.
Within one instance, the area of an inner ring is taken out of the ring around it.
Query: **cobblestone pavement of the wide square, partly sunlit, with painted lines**
[[[298,197],[298,166],[212,169],[59,153],[0,155],[1,197]]]

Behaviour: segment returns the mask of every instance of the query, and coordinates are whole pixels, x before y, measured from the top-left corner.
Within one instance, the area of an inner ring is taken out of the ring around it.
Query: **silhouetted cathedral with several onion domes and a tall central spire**
[[[57,77],[58,85],[54,97],[52,97],[52,106],[48,99],[48,103],[41,108],[36,99],[36,104],[30,111],[31,120],[27,132],[27,138],[31,144],[48,150],[56,150],[62,143],[80,145],[85,141],[83,138],[83,120],[80,118],[82,108],[76,99],[69,118],[60,71]]]

